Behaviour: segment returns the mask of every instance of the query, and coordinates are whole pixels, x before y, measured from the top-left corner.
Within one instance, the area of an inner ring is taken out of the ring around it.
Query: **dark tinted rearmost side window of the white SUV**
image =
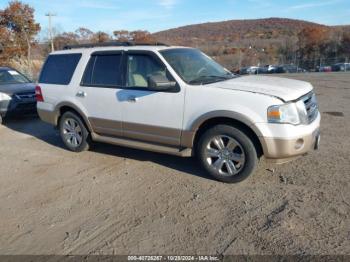
[[[41,71],[39,83],[68,85],[81,54],[50,55]]]

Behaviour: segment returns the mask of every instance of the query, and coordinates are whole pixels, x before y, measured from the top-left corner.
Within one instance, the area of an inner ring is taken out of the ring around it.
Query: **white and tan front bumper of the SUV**
[[[265,158],[269,162],[284,163],[317,150],[320,143],[320,121],[318,113],[309,125],[258,124],[263,133],[259,139]]]

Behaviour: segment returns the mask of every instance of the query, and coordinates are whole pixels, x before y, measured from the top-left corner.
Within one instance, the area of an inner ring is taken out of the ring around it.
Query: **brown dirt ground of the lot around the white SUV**
[[[321,149],[262,161],[236,185],[192,159],[104,144],[71,153],[40,120],[8,121],[0,254],[350,255],[350,73],[286,76],[316,88]]]

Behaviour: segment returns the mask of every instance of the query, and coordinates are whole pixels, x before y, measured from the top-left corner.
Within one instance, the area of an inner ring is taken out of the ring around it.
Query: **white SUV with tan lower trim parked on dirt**
[[[264,156],[277,163],[317,149],[320,113],[311,84],[238,77],[197,49],[107,43],[49,55],[38,113],[68,149],[92,141],[178,156],[239,182]]]

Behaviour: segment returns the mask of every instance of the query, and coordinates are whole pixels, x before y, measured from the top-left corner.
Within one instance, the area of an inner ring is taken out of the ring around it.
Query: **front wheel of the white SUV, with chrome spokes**
[[[230,125],[217,125],[204,132],[198,141],[197,157],[212,177],[226,183],[243,181],[258,165],[251,139]]]

